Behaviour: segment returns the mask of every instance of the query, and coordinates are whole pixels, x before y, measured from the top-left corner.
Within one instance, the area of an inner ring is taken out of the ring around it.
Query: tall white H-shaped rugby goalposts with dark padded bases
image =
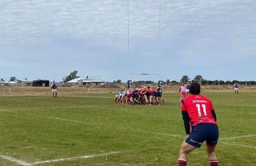
[[[127,88],[132,87],[132,82],[130,80],[130,75],[158,75],[159,81],[158,85],[162,89],[162,81],[160,80],[160,55],[161,55],[161,0],[159,0],[159,71],[158,73],[131,73],[130,72],[130,48],[129,48],[129,0],[127,0],[127,27],[128,27],[128,81]]]

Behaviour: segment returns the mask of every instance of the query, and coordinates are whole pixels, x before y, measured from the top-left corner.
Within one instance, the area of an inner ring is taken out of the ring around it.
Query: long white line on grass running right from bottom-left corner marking
[[[59,162],[59,161],[66,161],[66,160],[77,160],[81,158],[91,158],[91,157],[97,157],[97,156],[106,156],[109,154],[117,154],[120,152],[109,152],[109,153],[103,153],[103,154],[93,154],[93,155],[88,155],[88,156],[77,156],[77,157],[69,157],[69,158],[61,158],[61,159],[53,159],[53,160],[46,160],[46,161],[38,161],[33,164],[44,164],[44,163],[51,163],[51,162]]]

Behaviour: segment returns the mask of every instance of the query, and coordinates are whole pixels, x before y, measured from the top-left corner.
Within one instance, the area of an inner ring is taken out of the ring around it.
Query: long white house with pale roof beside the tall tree
[[[76,86],[76,85],[93,86],[93,85],[104,85],[105,81],[90,79],[87,76],[86,78],[75,78],[71,81],[68,81],[67,83],[70,86]]]

